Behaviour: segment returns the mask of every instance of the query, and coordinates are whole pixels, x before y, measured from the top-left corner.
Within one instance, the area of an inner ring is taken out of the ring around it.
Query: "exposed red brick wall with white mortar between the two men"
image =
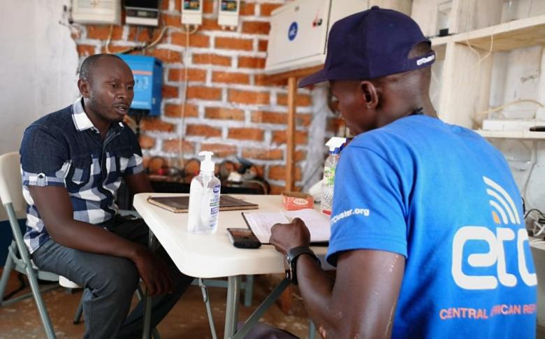
[[[286,164],[287,90],[266,82],[265,66],[270,13],[286,0],[241,1],[240,25],[235,31],[217,25],[217,0],[204,0],[203,26],[189,38],[168,30],[161,42],[147,50],[163,61],[163,103],[160,117],[145,118],[140,144],[145,159],[159,155],[184,159],[196,157],[201,150],[216,152],[222,159],[245,157],[261,166],[263,175],[281,192]],[[180,24],[180,0],[162,0],[164,24]],[[162,28],[163,24],[161,24]],[[110,50],[116,52],[139,41],[159,36],[161,28],[136,29],[116,26]],[[110,27],[83,25],[74,34],[81,59],[104,52]],[[186,64],[187,62],[187,64]],[[187,107],[182,124],[184,71],[188,68]],[[312,98],[306,89],[297,98],[296,161],[294,175],[300,185],[306,159],[308,126],[312,120]],[[180,141],[181,136],[181,141]]]

